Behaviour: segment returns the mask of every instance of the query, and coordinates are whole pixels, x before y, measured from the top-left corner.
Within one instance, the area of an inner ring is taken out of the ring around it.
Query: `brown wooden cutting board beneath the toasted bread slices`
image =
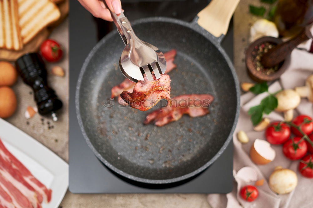
[[[30,42],[24,45],[23,49],[20,51],[12,51],[6,49],[0,49],[0,61],[15,61],[18,57],[22,56],[25,53],[37,52],[41,43],[48,38],[50,32],[54,27],[57,27],[65,17],[67,17],[69,13],[69,0],[65,0],[59,4],[57,4],[59,10],[61,12],[61,16],[58,21],[52,23],[48,27],[44,28],[41,32],[39,32]]]

